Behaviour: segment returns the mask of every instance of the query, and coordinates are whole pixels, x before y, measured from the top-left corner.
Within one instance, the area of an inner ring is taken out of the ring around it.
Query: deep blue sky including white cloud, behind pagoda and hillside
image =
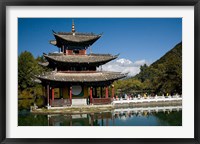
[[[71,32],[72,20],[76,32],[103,34],[91,46],[92,53],[120,54],[104,70],[131,76],[140,65],[153,63],[182,41],[181,18],[18,18],[18,55],[25,50],[34,57],[57,52],[49,44],[55,39],[52,30]]]

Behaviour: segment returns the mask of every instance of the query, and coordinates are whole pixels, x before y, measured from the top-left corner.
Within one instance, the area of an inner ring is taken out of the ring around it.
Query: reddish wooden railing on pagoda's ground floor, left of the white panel
[[[50,104],[53,107],[71,106],[70,99],[50,99]]]

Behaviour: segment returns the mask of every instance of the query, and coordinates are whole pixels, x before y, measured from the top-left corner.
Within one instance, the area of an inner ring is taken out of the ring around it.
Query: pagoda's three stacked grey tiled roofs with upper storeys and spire
[[[51,40],[50,43],[61,50],[59,53],[43,54],[47,62],[40,64],[55,71],[38,76],[42,82],[112,83],[126,76],[117,72],[96,71],[97,67],[118,57],[111,54],[86,54],[86,49],[97,41],[101,34],[78,33],[73,24],[71,32],[53,31],[53,35],[55,40]]]

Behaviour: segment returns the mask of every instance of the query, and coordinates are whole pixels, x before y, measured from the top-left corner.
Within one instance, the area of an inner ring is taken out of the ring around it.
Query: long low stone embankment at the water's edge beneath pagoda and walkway
[[[109,112],[119,108],[141,108],[141,107],[161,107],[161,106],[182,106],[182,100],[160,101],[160,102],[143,102],[143,103],[118,103],[109,105],[84,105],[68,107],[51,107],[31,109],[33,114],[88,114]]]

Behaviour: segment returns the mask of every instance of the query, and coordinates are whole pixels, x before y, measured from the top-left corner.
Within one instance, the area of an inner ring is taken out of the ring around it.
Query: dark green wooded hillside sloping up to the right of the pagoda
[[[140,66],[140,72],[134,77],[123,82],[116,82],[116,85],[124,91],[140,90],[156,94],[181,94],[182,42],[150,66],[146,64]]]

